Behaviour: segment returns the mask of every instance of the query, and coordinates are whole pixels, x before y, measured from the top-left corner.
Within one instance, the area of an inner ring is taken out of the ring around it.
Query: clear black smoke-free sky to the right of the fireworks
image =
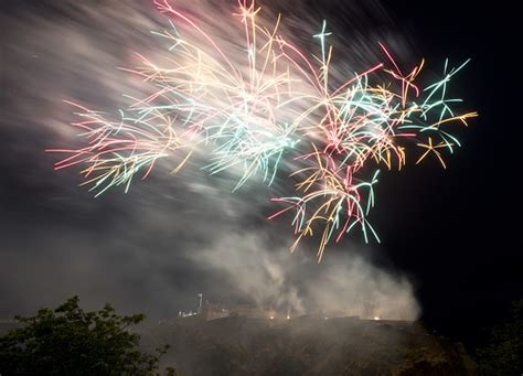
[[[399,200],[384,193],[384,212],[402,215],[381,228],[391,259],[417,276],[424,319],[473,335],[523,296],[514,9],[482,1],[395,1],[387,9],[424,56],[472,58],[461,89],[480,118],[462,133],[466,147],[441,174],[413,169],[408,181],[391,179],[386,190]]]

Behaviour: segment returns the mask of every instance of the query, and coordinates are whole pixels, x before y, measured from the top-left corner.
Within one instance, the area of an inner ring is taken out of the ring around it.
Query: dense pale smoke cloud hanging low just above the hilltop
[[[230,234],[192,254],[220,280],[211,296],[236,299],[291,315],[356,315],[415,320],[419,307],[412,283],[354,253],[335,253],[320,265],[306,251],[290,254],[260,236]]]

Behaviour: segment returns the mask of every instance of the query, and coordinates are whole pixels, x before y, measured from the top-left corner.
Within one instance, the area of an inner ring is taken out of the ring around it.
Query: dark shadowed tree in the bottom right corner
[[[523,299],[515,301],[512,320],[492,329],[489,344],[477,350],[480,375],[523,373]]]

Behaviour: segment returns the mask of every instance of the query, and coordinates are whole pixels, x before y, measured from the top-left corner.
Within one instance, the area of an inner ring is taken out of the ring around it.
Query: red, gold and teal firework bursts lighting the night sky
[[[452,107],[461,100],[447,97],[448,83],[467,62],[456,68],[446,62],[442,78],[420,87],[424,61],[405,71],[377,43],[383,60],[340,82],[330,73],[333,47],[325,22],[312,35],[313,55],[280,33],[279,15],[268,26],[254,1],[241,0],[232,18],[245,45],[232,56],[205,25],[168,0],[154,4],[171,23],[154,32],[169,44],[166,56],[153,62],[138,55],[140,66],[126,69],[154,92],[132,98],[117,121],[73,104],[82,119],[73,126],[87,143],[51,150],[66,155],[55,169],[81,166],[83,184],[96,195],[120,185],[127,192],[134,178],[146,179],[160,159],[173,163],[175,173],[196,150],[210,155],[203,165],[210,174],[241,171],[235,190],[254,175],[270,185],[288,161],[296,192],[271,198],[284,208],[269,218],[293,213],[291,250],[319,230],[321,260],[327,245],[354,227],[365,240],[370,235],[378,240],[366,217],[381,165],[401,170],[412,143],[420,150],[416,164],[434,157],[446,168],[444,152],[460,147],[452,125],[467,126],[477,116],[457,114]],[[370,179],[364,168],[374,170]]]

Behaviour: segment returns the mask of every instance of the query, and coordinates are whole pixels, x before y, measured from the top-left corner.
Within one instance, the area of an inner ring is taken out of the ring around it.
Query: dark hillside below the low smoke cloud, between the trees
[[[143,340],[171,344],[163,363],[181,375],[476,375],[461,344],[412,322],[193,316]]]

